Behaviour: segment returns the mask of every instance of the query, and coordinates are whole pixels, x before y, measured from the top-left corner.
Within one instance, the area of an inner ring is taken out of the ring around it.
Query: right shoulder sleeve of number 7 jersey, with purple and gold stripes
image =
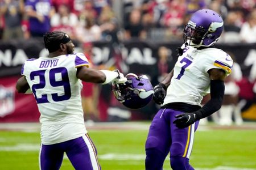
[[[224,70],[226,76],[232,72],[233,59],[229,54],[225,53],[220,49],[215,49],[212,52],[206,54],[205,58],[205,72],[207,73],[210,69],[221,69]]]

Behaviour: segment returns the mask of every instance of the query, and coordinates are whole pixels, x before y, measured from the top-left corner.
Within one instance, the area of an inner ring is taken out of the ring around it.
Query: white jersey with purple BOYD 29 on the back
[[[22,75],[38,103],[44,145],[75,139],[87,132],[81,104],[82,83],[76,76],[80,66],[89,67],[82,53],[24,62]]]

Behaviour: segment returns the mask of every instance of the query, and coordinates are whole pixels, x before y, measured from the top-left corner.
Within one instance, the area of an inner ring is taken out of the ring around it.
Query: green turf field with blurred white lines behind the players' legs
[[[89,129],[104,170],[144,169],[144,142],[147,130]],[[191,164],[195,169],[256,169],[256,130],[199,130]],[[39,169],[39,132],[0,131],[0,169]],[[73,169],[64,158],[61,169]],[[164,169],[170,169],[167,158]]]

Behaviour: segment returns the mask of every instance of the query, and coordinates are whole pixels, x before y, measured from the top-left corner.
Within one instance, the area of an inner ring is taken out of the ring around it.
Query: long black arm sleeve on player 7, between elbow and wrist
[[[210,100],[201,109],[194,112],[196,114],[196,120],[210,116],[210,114],[221,108],[224,91],[224,81],[210,80]]]

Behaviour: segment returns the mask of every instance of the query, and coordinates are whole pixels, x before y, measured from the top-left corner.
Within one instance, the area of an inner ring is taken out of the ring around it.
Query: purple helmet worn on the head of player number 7
[[[212,46],[220,39],[223,29],[221,16],[209,9],[196,11],[184,28],[184,43],[195,46]]]

